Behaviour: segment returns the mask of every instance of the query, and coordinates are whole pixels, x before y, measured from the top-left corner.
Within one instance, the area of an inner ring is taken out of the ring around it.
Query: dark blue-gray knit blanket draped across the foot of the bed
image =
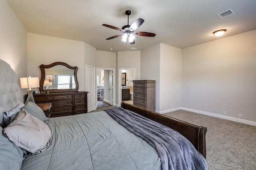
[[[122,107],[105,111],[120,125],[156,149],[162,170],[207,170],[202,154],[175,130]]]

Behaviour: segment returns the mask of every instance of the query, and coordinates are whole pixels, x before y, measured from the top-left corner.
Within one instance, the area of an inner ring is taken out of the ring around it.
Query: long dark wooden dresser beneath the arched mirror
[[[51,117],[59,117],[87,113],[87,93],[86,91],[41,93],[33,94],[33,97],[36,104],[52,103]]]

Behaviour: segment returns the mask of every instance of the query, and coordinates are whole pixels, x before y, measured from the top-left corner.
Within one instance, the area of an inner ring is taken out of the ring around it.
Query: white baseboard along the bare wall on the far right
[[[239,118],[236,118],[236,117],[229,117],[229,116],[225,116],[225,115],[219,115],[219,114],[216,114],[216,113],[210,113],[210,112],[205,112],[205,111],[198,111],[198,110],[195,110],[195,109],[188,109],[186,107],[180,107],[180,109],[184,110],[184,111],[190,111],[190,112],[194,112],[194,113],[199,113],[199,114],[202,114],[202,115],[218,117],[218,118],[221,118],[221,119],[226,119],[226,120],[234,121],[234,122],[238,122],[238,123],[244,123],[246,125],[256,126],[256,122],[248,121],[248,120],[244,120],[244,119],[239,119]]]

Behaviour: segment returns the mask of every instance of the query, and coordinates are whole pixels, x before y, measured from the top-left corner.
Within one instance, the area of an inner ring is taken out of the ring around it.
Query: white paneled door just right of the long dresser
[[[85,89],[87,93],[87,110],[95,110],[95,67],[86,65]]]

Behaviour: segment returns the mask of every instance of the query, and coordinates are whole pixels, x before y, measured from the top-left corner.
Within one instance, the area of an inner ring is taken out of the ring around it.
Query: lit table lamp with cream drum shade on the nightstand
[[[20,86],[22,89],[28,89],[28,98],[26,100],[26,103],[25,105],[28,103],[28,102],[33,102],[35,103],[34,101],[34,98],[33,98],[33,91],[31,88],[35,88],[35,87],[39,87],[39,78],[38,77],[20,77]]]

